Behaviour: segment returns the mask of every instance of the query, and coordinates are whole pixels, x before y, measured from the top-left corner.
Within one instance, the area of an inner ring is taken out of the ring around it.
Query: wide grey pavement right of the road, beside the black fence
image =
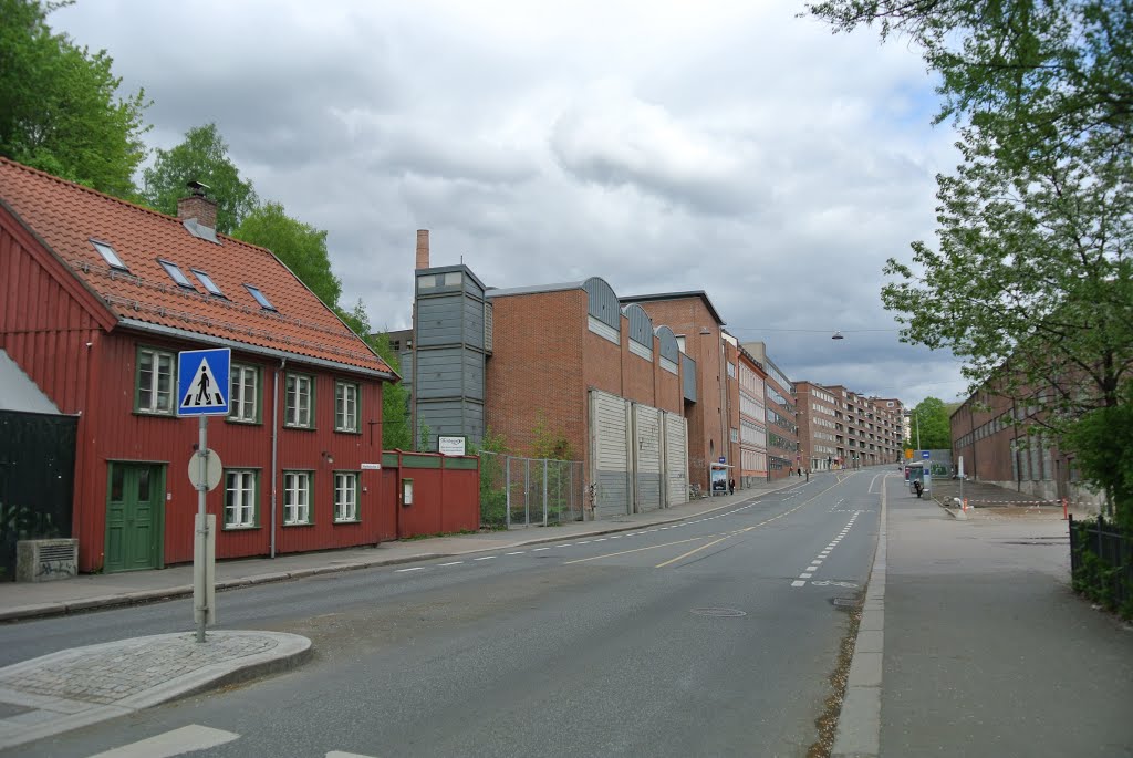
[[[1062,509],[888,495],[871,755],[1133,756],[1133,628],[1072,591]]]

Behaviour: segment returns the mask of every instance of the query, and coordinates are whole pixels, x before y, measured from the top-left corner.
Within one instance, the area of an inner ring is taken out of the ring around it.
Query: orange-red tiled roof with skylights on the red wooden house
[[[180,220],[0,157],[2,199],[122,321],[242,342],[340,364],[392,371],[271,252],[218,235],[189,233]],[[112,269],[91,244],[108,242],[129,270]],[[179,287],[157,262],[176,263],[197,291]],[[207,295],[198,269],[224,298]],[[245,288],[259,289],[265,310]]]

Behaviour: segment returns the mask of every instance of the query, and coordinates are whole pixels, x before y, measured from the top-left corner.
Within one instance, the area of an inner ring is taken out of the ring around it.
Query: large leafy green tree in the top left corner
[[[0,154],[134,198],[145,160],[145,92],[119,96],[105,50],[92,53],[46,17],[68,3],[0,0]]]

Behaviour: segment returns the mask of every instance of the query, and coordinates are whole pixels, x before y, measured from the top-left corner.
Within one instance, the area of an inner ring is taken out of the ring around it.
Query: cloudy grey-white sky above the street
[[[79,0],[50,22],[145,87],[152,147],[214,121],[261,198],[327,230],[376,327],[409,325],[429,229],[434,265],[489,286],[702,289],[792,380],[951,401],[959,363],[902,344],[879,290],[932,239],[953,133],[908,45],[801,10]]]

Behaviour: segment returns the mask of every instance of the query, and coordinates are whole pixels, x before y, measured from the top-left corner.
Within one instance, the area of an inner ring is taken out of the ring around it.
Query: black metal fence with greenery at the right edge
[[[1100,516],[1090,521],[1071,516],[1070,568],[1074,589],[1133,616],[1133,539]]]

